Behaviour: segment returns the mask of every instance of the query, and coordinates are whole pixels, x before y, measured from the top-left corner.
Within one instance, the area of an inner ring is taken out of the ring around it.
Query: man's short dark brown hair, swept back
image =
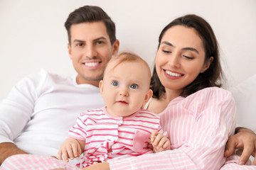
[[[92,23],[97,21],[102,21],[105,24],[107,34],[110,37],[110,42],[113,44],[116,40],[114,22],[111,20],[110,16],[98,6],[82,6],[70,13],[67,21],[65,21],[65,28],[68,31],[68,42],[70,43],[71,40],[70,27],[73,24]]]

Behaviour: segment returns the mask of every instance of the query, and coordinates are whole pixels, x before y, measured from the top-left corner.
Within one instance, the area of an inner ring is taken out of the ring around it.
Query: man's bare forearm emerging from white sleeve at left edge
[[[4,160],[14,154],[28,154],[21,149],[18,149],[16,145],[11,142],[0,143],[0,165]]]

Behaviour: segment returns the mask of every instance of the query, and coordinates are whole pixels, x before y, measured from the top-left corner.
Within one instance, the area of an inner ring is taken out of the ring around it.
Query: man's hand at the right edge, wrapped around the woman
[[[225,157],[229,157],[235,149],[242,149],[242,155],[238,164],[245,164],[250,155],[255,157],[256,154],[256,134],[247,128],[236,128],[235,135],[228,138],[225,147]],[[253,161],[256,165],[256,159]]]

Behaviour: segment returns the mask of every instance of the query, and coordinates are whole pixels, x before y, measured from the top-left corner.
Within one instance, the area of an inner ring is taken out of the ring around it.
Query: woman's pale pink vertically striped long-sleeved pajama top
[[[172,150],[110,162],[110,169],[220,169],[228,136],[235,132],[235,101],[210,87],[178,96],[159,113]]]

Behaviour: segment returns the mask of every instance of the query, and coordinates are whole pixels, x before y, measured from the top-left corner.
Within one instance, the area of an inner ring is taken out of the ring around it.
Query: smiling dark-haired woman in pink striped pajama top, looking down
[[[220,169],[235,132],[235,103],[221,89],[218,42],[203,18],[176,18],[159,36],[148,109],[161,116],[171,150],[88,169]]]

